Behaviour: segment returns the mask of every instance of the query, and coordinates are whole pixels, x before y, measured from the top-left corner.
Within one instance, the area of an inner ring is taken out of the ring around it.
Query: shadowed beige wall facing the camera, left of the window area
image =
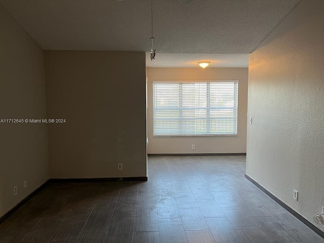
[[[51,178],[146,176],[145,53],[46,51]],[[117,164],[123,163],[123,171]]]

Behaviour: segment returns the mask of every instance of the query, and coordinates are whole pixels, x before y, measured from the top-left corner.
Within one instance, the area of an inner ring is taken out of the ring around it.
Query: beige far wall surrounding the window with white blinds
[[[147,152],[245,153],[247,138],[248,68],[147,68]],[[239,80],[237,136],[153,137],[153,81]],[[191,145],[195,145],[195,150]]]

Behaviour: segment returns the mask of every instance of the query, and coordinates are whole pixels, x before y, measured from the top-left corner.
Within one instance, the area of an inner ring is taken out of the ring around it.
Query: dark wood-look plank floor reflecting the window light
[[[324,242],[245,167],[245,156],[149,157],[147,182],[50,184],[0,225],[0,242]]]

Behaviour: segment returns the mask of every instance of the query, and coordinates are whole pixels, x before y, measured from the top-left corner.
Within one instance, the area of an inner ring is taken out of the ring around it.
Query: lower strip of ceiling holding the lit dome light
[[[197,67],[197,62],[210,61],[209,67],[248,67],[249,54],[178,54],[157,53],[156,59],[150,59],[146,53],[147,67]]]

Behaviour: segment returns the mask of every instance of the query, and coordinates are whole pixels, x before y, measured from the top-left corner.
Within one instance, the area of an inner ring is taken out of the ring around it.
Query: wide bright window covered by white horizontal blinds
[[[237,134],[237,81],[153,83],[154,136]]]

